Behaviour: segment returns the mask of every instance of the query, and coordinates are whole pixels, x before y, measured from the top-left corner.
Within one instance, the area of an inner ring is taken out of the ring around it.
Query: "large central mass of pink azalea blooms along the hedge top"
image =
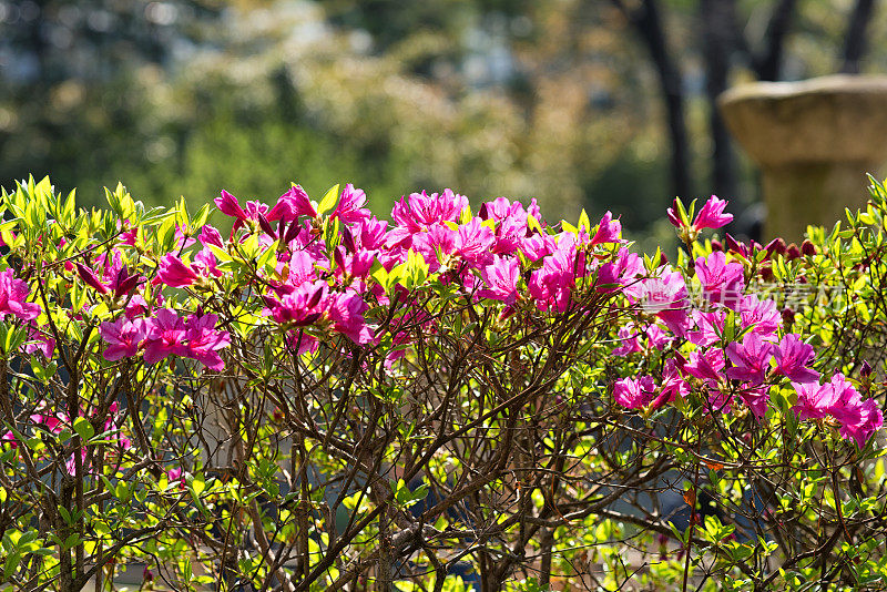
[[[272,207],[256,202],[242,207],[228,193],[215,203],[235,218],[231,241],[258,232],[263,245],[278,242],[277,273],[265,278],[264,314],[286,328],[302,351],[316,348],[324,330],[358,345],[376,343],[379,336],[365,317],[368,299],[387,304],[390,295],[370,278],[374,264],[378,262],[391,272],[407,263],[410,253],[421,257],[431,274],[455,284],[469,297],[503,303],[506,315],[527,294],[540,310],[564,310],[577,280],[588,277],[592,269],[605,275],[608,284],[628,284],[643,271],[640,258],[624,247],[619,249],[616,264],[599,264],[598,258],[587,263],[587,246],[604,248],[622,243],[621,225],[609,212],[593,236],[590,228],[583,228],[579,236],[570,232],[551,235],[542,232],[544,223],[534,201],[524,208],[499,197],[482,204],[475,216],[469,215],[467,197],[446,190],[401,198],[391,212],[394,225],[389,228],[387,222],[363,207],[365,193],[349,184],[329,214],[329,221],[340,225],[339,244],[330,253],[318,239],[322,221],[317,206],[298,186]],[[272,224],[275,221],[276,227]],[[521,265],[521,257],[530,262],[529,268]],[[197,275],[196,269],[185,268],[171,256],[165,259],[159,277],[166,285],[185,285]],[[397,292],[401,298],[410,297],[402,286]],[[399,346],[410,341],[406,329],[410,325],[398,319],[390,325]],[[402,347],[391,358],[401,355]]]

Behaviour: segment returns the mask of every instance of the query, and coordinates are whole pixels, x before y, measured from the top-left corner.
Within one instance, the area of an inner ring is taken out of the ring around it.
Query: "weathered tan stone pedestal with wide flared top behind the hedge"
[[[764,238],[799,241],[868,200],[865,174],[887,163],[887,76],[834,75],[738,85],[718,99],[734,137],[761,166]]]

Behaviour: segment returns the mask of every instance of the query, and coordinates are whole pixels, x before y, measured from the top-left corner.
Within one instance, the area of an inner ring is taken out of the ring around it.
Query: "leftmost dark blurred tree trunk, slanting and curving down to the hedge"
[[[612,2],[638,32],[653,60],[665,102],[672,143],[672,194],[687,197],[691,194],[690,151],[684,118],[683,79],[667,48],[659,3],[656,0],[643,0],[638,8],[629,8],[622,0]]]

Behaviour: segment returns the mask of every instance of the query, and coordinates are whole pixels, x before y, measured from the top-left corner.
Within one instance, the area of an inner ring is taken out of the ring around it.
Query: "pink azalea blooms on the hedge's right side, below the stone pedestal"
[[[723,204],[712,196],[694,226],[716,227],[712,225],[724,222]],[[750,252],[753,247],[736,245],[736,249],[743,248]],[[667,265],[625,289],[641,314],[619,331],[616,351],[669,350],[674,355],[666,357],[657,378],[618,380],[613,397],[619,405],[655,409],[696,389],[705,395],[712,411],[746,407],[763,418],[771,389],[787,382],[797,392],[794,410],[799,419],[829,417],[842,437],[854,439],[859,447],[883,426],[875,401],[863,400],[843,375],[819,384],[819,374],[813,369],[813,347],[798,335],[783,331],[775,303],[745,294],[741,263],[715,252],[699,257],[694,271],[706,308],[690,308],[684,276]]]

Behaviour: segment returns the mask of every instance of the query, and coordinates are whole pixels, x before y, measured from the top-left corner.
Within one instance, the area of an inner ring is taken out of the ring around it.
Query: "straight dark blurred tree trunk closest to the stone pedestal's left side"
[[[737,44],[736,2],[701,0],[700,18],[708,126],[712,133],[712,169],[708,183],[715,194],[731,197],[736,194],[735,156],[730,132],[717,109],[717,96],[727,90],[731,57]]]

